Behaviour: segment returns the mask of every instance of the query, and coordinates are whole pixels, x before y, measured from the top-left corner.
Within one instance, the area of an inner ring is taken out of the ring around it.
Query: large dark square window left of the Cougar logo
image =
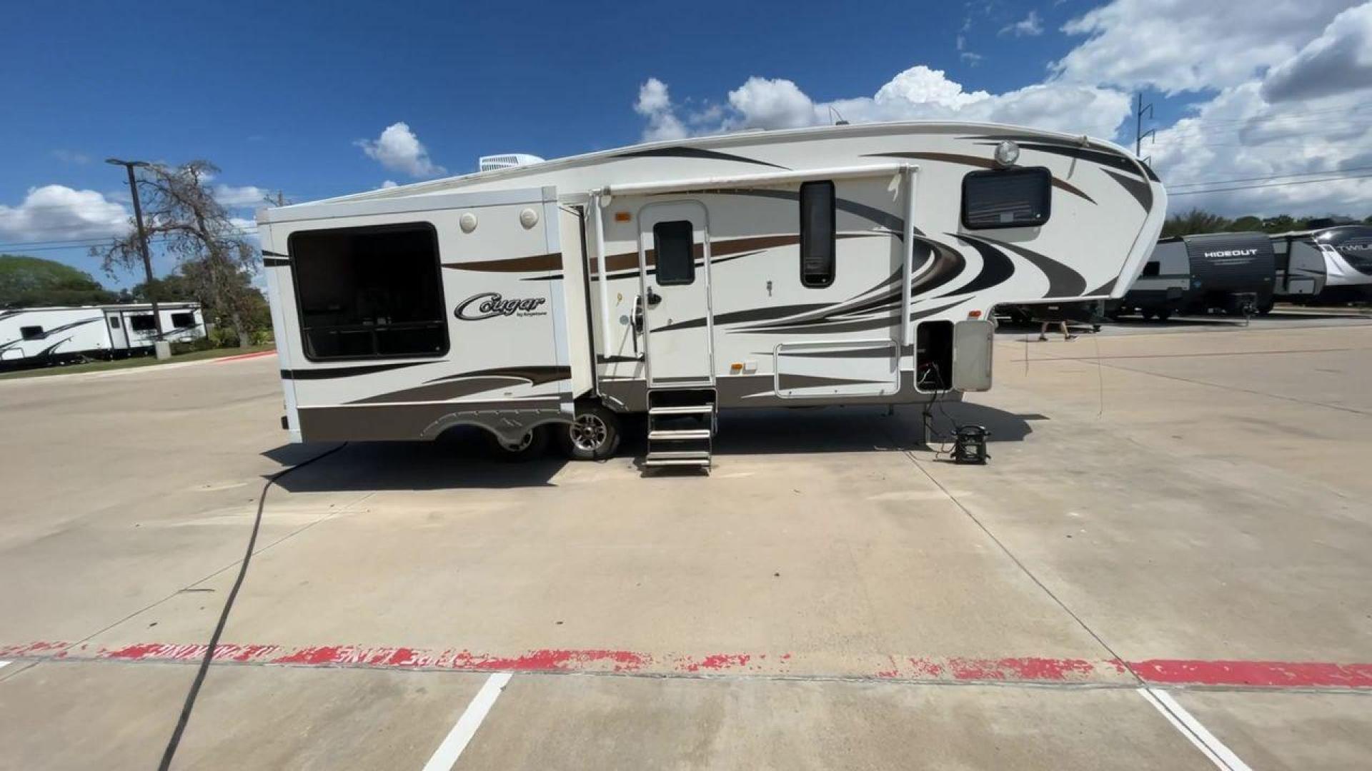
[[[305,230],[288,247],[307,358],[447,353],[432,225]]]

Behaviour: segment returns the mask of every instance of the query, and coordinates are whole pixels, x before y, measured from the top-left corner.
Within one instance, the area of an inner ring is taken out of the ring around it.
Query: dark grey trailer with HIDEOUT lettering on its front
[[[1111,316],[1137,311],[1166,320],[1174,313],[1266,313],[1276,269],[1266,233],[1205,233],[1161,239],[1143,273]]]

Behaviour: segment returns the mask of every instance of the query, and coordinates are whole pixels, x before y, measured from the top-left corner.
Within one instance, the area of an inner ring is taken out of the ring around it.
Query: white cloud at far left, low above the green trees
[[[43,185],[18,206],[0,204],[0,236],[10,240],[103,239],[128,229],[128,210],[96,191]]]

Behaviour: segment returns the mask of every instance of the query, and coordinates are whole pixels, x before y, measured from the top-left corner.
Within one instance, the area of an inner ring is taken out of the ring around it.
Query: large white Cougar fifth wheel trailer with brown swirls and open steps
[[[557,434],[586,460],[646,413],[646,465],[708,469],[719,409],[989,388],[991,310],[1122,296],[1165,211],[1109,141],[948,122],[652,143],[266,209],[283,424],[296,442],[476,425],[514,454]]]

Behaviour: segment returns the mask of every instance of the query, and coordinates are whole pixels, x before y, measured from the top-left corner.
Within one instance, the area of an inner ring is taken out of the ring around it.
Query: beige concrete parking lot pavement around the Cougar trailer
[[[938,414],[984,468],[918,409],[726,413],[709,477],[348,446],[269,494],[178,767],[418,768],[502,669],[460,768],[1214,767],[1140,686],[1254,768],[1365,767],[1369,350],[1002,335]],[[0,767],[155,764],[263,475],[327,449],[274,370],[0,383]]]

